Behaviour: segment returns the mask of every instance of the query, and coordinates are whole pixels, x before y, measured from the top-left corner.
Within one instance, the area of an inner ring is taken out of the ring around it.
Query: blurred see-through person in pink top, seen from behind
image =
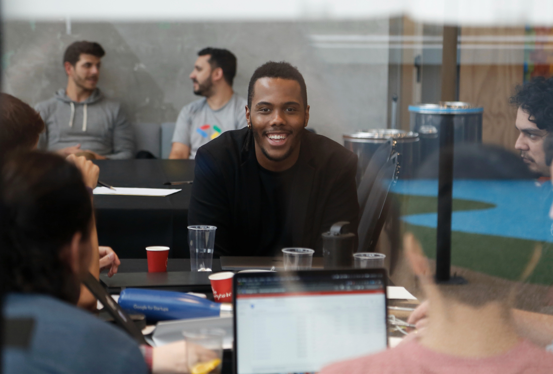
[[[455,147],[454,178],[528,180],[531,173],[515,154],[481,145]],[[438,158],[421,167],[419,177],[437,178]],[[434,270],[411,233],[404,236],[404,255],[424,295],[425,328],[411,333],[396,348],[338,362],[320,374],[333,373],[550,373],[553,354],[521,338],[512,313],[516,285],[499,277],[471,277],[466,285],[436,284]],[[541,254],[535,249],[520,275],[533,272]],[[494,259],[500,263],[502,258]]]

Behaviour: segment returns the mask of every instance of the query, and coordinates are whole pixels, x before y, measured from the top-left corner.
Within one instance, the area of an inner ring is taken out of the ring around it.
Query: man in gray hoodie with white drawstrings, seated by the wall
[[[96,159],[134,156],[134,132],[121,104],[96,86],[105,51],[96,42],[76,41],[65,50],[67,87],[36,104],[46,124],[38,147],[62,156],[86,152]]]

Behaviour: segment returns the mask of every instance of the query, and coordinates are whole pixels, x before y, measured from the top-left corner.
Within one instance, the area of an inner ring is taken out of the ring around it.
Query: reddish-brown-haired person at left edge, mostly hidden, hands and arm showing
[[[33,108],[12,95],[0,93],[0,162],[13,153],[35,149],[40,133],[43,131],[44,121]],[[86,162],[84,157],[70,155],[69,160],[85,175],[87,187],[95,188],[98,167],[91,162]],[[121,261],[110,247],[98,246],[95,222],[91,228],[90,241],[93,248],[90,273],[96,279],[104,269],[109,269],[110,277],[116,274]],[[81,288],[81,296],[77,304],[87,309],[96,309],[96,298],[85,286]]]

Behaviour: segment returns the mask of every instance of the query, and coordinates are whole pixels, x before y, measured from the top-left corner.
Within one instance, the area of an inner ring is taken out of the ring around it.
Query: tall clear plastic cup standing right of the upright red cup
[[[191,271],[211,271],[216,229],[215,226],[188,226]]]

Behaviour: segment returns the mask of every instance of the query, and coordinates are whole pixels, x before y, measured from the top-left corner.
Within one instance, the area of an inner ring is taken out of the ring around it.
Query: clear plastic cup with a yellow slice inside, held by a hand
[[[191,373],[218,374],[223,363],[223,338],[221,329],[202,329],[199,332],[183,331],[186,341],[186,359]]]

